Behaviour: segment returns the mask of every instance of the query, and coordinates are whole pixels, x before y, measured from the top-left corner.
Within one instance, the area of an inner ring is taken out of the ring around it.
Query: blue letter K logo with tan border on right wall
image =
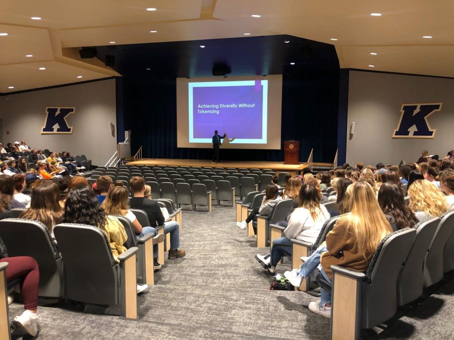
[[[441,111],[443,103],[403,104],[401,118],[392,138],[434,138],[436,129],[430,127],[430,115]]]

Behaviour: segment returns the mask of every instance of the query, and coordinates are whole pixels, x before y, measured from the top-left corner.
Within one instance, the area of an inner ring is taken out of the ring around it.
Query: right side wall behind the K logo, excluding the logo
[[[350,71],[347,163],[416,162],[421,151],[440,158],[454,147],[454,79]],[[428,118],[434,139],[392,139],[402,104],[443,103]]]

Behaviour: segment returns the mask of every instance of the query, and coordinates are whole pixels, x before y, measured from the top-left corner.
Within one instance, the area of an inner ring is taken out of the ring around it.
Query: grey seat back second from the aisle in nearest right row
[[[398,279],[398,304],[406,305],[421,296],[424,287],[423,266],[427,250],[440,221],[439,217],[419,222],[416,239],[401,268]]]

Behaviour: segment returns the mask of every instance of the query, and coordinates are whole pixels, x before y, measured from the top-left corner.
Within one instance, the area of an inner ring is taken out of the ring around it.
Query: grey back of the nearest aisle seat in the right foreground
[[[363,328],[372,328],[395,314],[399,271],[415,237],[414,229],[401,229],[386,235],[378,245],[363,280]]]

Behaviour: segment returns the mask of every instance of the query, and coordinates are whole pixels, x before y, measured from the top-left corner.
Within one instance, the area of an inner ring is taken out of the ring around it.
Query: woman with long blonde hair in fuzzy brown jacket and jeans
[[[300,266],[286,271],[286,278],[299,287],[318,267],[323,277],[331,282],[330,266],[340,265],[351,270],[365,272],[380,241],[392,232],[391,226],[381,211],[375,192],[364,181],[356,182],[351,189],[350,211],[337,219],[326,242]],[[331,317],[331,292],[320,290],[321,299],[309,304],[309,309],[325,317]]]

